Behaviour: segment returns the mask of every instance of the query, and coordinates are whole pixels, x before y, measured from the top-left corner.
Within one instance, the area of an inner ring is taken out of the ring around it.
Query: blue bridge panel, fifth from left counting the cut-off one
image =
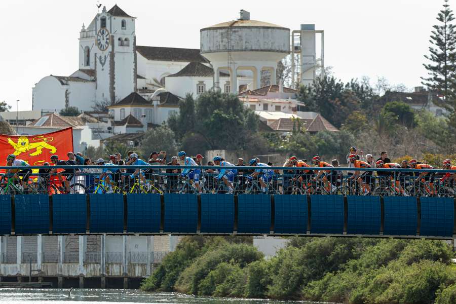
[[[160,232],[159,194],[127,194],[127,232]]]

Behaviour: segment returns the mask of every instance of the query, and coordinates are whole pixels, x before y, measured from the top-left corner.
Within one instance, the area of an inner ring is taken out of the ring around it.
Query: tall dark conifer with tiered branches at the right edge
[[[438,13],[439,25],[434,25],[431,31],[431,46],[429,55],[424,57],[431,63],[423,65],[428,70],[428,78],[422,77],[422,84],[432,92],[443,95],[441,102],[436,101],[450,111],[456,108],[456,33],[453,11],[449,8],[448,0],[444,0],[443,9]]]

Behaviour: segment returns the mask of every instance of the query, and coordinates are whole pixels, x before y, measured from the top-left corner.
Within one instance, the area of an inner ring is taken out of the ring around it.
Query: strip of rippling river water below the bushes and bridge
[[[197,297],[180,293],[149,293],[137,289],[0,289],[0,303],[157,303],[157,304],[296,304],[297,301]]]

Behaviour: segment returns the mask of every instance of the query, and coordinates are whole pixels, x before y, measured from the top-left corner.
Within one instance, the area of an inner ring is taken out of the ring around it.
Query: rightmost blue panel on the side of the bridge
[[[453,198],[421,198],[421,236],[451,237],[454,225]]]

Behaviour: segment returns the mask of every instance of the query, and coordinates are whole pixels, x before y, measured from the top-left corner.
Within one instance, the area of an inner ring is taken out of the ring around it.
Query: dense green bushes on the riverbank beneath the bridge
[[[292,238],[265,259],[246,237],[185,237],[145,291],[347,303],[449,304],[453,252],[442,241]]]

